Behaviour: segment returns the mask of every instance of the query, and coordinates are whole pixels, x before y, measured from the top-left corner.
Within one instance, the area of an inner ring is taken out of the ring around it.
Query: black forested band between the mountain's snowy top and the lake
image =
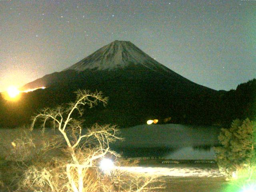
[[[124,75],[120,78],[121,75],[110,72],[108,75],[94,72],[93,78],[97,81],[88,78],[92,73],[65,73],[71,76],[70,83],[65,80],[63,84],[61,80],[67,75],[60,74],[63,76],[58,77],[60,82],[51,84],[45,90],[24,93],[17,102],[0,98],[0,127],[13,128],[30,124],[31,116],[37,114],[39,109],[74,101],[74,91],[79,88],[101,90],[109,98],[106,107],[99,105],[85,110],[82,117],[85,126],[97,122],[117,124],[122,128],[145,124],[146,120],[154,118],[159,120],[159,124],[229,126],[236,118],[253,120],[256,115],[256,79],[238,85],[236,90],[215,91],[194,83],[172,83],[156,73],[145,71],[143,74],[142,70],[140,79]],[[147,77],[154,81],[149,84]]]

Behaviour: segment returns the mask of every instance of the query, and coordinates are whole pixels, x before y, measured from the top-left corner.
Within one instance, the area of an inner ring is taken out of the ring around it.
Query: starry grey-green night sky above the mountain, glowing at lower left
[[[0,0],[0,91],[127,40],[198,84],[256,78],[256,0]]]

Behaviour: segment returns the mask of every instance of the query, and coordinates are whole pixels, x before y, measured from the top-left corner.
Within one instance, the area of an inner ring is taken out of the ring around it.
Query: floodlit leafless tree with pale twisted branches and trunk
[[[51,121],[53,128],[57,128],[65,139],[68,151],[72,156],[72,162],[66,164],[66,174],[68,181],[74,192],[82,192],[84,190],[84,174],[83,171],[94,166],[96,160],[103,158],[106,154],[114,154],[109,147],[109,143],[116,139],[121,139],[116,136],[117,129],[115,126],[99,126],[95,124],[88,129],[85,134],[82,134],[82,121],[72,118],[72,114],[76,110],[81,116],[83,114],[82,106],[88,105],[90,108],[102,102],[104,105],[107,98],[102,96],[101,92],[91,93],[86,90],[78,90],[76,92],[76,102],[70,103],[69,107],[57,107],[56,109],[46,108],[42,113],[33,118],[31,130],[37,120],[42,120],[42,131],[44,131],[46,123]],[[86,156],[82,155],[80,142],[83,140],[83,147],[87,150]],[[94,145],[93,150],[89,151],[86,146]],[[73,170],[76,170],[77,177],[74,177]],[[76,181],[77,180],[77,181]]]

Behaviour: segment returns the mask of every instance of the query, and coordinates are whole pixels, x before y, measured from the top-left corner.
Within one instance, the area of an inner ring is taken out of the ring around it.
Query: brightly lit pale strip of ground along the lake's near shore
[[[218,168],[196,168],[196,167],[116,167],[132,173],[145,174],[147,176],[177,176],[177,177],[220,177],[223,176]]]

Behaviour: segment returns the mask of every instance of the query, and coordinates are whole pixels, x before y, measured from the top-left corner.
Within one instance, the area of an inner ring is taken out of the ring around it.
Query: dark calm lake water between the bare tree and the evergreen
[[[181,124],[140,125],[121,130],[124,141],[113,147],[124,156],[162,156],[166,159],[214,159],[220,127]]]

